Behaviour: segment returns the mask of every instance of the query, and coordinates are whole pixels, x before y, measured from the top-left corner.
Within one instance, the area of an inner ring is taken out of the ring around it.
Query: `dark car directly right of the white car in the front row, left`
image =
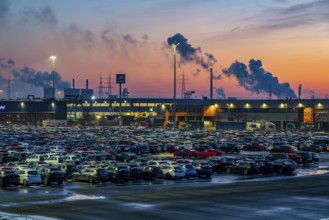
[[[44,185],[49,185],[51,183],[57,183],[58,185],[61,185],[64,181],[64,173],[61,169],[55,168],[55,167],[41,167],[38,169],[42,183]]]

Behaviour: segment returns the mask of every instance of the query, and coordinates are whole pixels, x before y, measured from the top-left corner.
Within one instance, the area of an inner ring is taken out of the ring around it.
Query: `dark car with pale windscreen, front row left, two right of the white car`
[[[79,171],[79,173],[72,174],[72,180],[85,181],[92,183],[106,182],[108,180],[108,172],[101,168],[85,168]]]

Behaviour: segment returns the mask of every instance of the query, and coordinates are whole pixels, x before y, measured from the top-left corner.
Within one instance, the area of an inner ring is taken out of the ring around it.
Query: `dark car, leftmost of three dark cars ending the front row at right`
[[[260,166],[254,161],[237,161],[226,169],[227,173],[237,174],[259,174],[261,172]]]

